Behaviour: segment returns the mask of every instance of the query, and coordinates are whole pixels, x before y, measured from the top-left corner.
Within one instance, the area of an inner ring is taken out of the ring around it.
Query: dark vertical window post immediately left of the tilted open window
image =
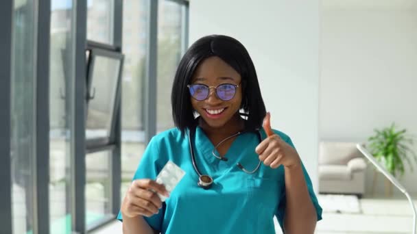
[[[87,0],[73,0],[75,5],[75,106],[73,109],[73,142],[71,142],[71,229],[86,233],[86,27]]]

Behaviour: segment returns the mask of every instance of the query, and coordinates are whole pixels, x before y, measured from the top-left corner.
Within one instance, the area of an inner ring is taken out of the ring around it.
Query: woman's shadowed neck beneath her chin
[[[237,113],[222,127],[210,127],[203,118],[200,118],[198,125],[204,130],[204,133],[206,133],[209,138],[227,138],[238,131],[243,131],[243,129],[245,129],[245,120]]]

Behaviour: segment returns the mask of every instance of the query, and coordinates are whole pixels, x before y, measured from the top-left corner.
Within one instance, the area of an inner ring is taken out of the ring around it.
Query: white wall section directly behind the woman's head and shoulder
[[[272,127],[291,136],[315,185],[318,0],[191,0],[189,12],[190,44],[208,34],[226,34],[248,49]]]

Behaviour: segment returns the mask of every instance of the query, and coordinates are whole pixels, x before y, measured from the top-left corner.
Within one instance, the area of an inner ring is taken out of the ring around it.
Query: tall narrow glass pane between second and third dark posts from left
[[[73,105],[72,0],[51,1],[49,64],[50,232],[71,233],[71,120]]]

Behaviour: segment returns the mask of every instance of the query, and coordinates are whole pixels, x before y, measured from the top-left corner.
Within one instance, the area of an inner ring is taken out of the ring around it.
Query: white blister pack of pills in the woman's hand
[[[182,177],[184,177],[184,174],[184,170],[172,161],[168,161],[159,172],[158,177],[156,177],[156,183],[165,185],[165,189],[167,189],[167,191],[171,194],[172,190],[174,190],[176,185],[180,183]],[[158,196],[163,202],[167,199],[166,196],[161,194],[158,194]]]

